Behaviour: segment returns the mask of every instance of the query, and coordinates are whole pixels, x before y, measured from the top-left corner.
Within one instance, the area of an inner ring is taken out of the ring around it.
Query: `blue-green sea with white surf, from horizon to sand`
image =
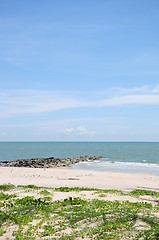
[[[102,156],[72,169],[159,175],[159,142],[0,142],[0,161]]]

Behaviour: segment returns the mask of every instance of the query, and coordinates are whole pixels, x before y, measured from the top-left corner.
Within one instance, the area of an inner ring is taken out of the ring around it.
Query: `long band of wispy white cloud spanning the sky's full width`
[[[158,105],[159,85],[107,92],[57,92],[11,90],[0,92],[0,117],[40,114],[69,108],[101,108],[120,105]],[[69,129],[68,129],[69,131]]]

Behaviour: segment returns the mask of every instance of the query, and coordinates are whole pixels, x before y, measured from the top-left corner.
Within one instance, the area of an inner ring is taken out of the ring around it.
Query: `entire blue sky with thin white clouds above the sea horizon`
[[[0,141],[159,141],[159,1],[0,1]]]

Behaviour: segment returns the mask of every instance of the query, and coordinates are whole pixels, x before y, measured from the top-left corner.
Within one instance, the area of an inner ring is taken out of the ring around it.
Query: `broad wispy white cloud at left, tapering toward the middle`
[[[39,90],[1,91],[1,117],[44,113],[86,105],[85,101],[69,95],[67,92]]]

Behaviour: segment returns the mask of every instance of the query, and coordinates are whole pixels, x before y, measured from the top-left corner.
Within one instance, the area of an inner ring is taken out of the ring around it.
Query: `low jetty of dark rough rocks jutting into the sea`
[[[1,167],[56,168],[69,167],[79,162],[95,161],[101,156],[80,156],[72,158],[31,158],[0,162]]]

